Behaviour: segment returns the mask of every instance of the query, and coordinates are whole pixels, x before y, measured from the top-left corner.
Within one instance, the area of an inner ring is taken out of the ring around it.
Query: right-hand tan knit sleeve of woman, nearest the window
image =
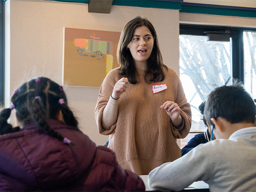
[[[177,74],[175,73],[177,76]],[[191,128],[191,122],[192,122],[192,114],[190,105],[186,100],[183,87],[180,81],[180,78],[177,76],[177,96],[175,103],[180,107],[180,116],[183,118],[183,124],[180,128],[173,127],[172,128],[172,134],[177,139],[183,139],[185,138],[190,131]]]

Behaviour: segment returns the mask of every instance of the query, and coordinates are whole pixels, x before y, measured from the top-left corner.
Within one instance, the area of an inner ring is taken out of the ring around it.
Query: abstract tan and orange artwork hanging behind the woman
[[[63,85],[100,87],[119,67],[116,50],[121,32],[64,28]]]

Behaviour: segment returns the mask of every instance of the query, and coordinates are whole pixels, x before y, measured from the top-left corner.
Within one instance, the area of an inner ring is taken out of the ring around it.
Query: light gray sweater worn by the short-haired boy
[[[234,132],[228,140],[198,145],[148,175],[153,190],[179,191],[204,180],[210,191],[256,191],[256,127]]]

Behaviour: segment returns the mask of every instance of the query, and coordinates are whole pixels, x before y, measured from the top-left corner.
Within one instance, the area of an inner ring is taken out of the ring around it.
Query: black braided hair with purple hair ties
[[[56,119],[56,115],[61,111],[67,125],[73,127],[78,125],[73,112],[67,106],[67,97],[63,88],[57,83],[45,77],[32,79],[14,91],[11,101],[13,105],[0,112],[0,134],[20,130],[19,127],[13,128],[7,122],[12,108],[15,107],[16,117],[20,125],[25,126],[35,122],[41,133],[54,137],[61,142],[70,143],[67,138],[50,128],[47,123],[47,119]]]

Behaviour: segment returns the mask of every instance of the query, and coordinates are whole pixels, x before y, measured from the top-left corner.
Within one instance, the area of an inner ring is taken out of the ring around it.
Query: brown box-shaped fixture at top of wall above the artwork
[[[89,13],[110,13],[113,0],[89,0]]]

